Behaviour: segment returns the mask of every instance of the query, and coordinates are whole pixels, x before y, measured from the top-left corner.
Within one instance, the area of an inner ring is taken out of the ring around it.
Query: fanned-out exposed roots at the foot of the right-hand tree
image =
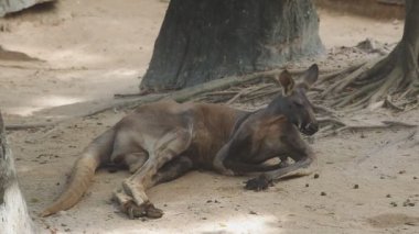
[[[415,68],[413,73],[406,66],[394,62],[391,57],[387,57],[379,62],[369,63],[369,65],[375,64],[375,66],[366,71],[363,70],[368,64],[358,68],[327,88],[322,96],[334,99],[332,107],[339,109],[374,107],[384,98],[389,104],[390,98],[388,96],[396,93],[402,93],[399,98],[405,96],[416,98],[415,94],[419,90],[416,87],[416,80],[419,79],[418,70]]]

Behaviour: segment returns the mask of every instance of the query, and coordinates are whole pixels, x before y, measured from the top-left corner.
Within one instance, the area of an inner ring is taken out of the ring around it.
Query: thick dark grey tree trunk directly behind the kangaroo
[[[171,0],[141,90],[180,89],[323,52],[311,0]]]

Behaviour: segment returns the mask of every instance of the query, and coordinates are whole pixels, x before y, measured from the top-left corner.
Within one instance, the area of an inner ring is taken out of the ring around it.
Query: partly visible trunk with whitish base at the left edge
[[[0,233],[34,233],[19,189],[12,152],[8,146],[0,113]]]

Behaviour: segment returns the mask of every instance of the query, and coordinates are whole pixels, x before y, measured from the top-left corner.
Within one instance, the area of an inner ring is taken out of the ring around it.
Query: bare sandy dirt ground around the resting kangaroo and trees
[[[149,191],[164,210],[159,220],[128,220],[119,213],[110,196],[129,174],[99,170],[76,207],[40,219],[37,213],[62,191],[77,154],[123,116],[125,111],[114,110],[79,118],[112,102],[115,93],[138,91],[166,7],[158,0],[61,0],[53,9],[0,20],[0,107],[6,122],[72,118],[54,126],[9,132],[40,233],[419,233],[419,145],[418,135],[410,137],[415,129],[314,137],[320,177],[282,180],[261,192],[245,191],[246,178],[190,172]],[[367,56],[342,46],[367,37],[394,45],[401,36],[400,21],[319,12],[327,48],[315,59],[321,68],[344,67]],[[419,124],[418,116],[416,109],[342,118]]]

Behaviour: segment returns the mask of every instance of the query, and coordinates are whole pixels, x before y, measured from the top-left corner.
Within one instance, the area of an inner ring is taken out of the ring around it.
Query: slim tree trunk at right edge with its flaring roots
[[[406,0],[406,20],[401,41],[383,59],[366,64],[352,75],[330,87],[324,96],[331,94],[339,108],[375,107],[384,97],[399,98],[419,93],[419,1]],[[365,70],[365,67],[370,69]],[[364,71],[365,70],[365,71]]]

